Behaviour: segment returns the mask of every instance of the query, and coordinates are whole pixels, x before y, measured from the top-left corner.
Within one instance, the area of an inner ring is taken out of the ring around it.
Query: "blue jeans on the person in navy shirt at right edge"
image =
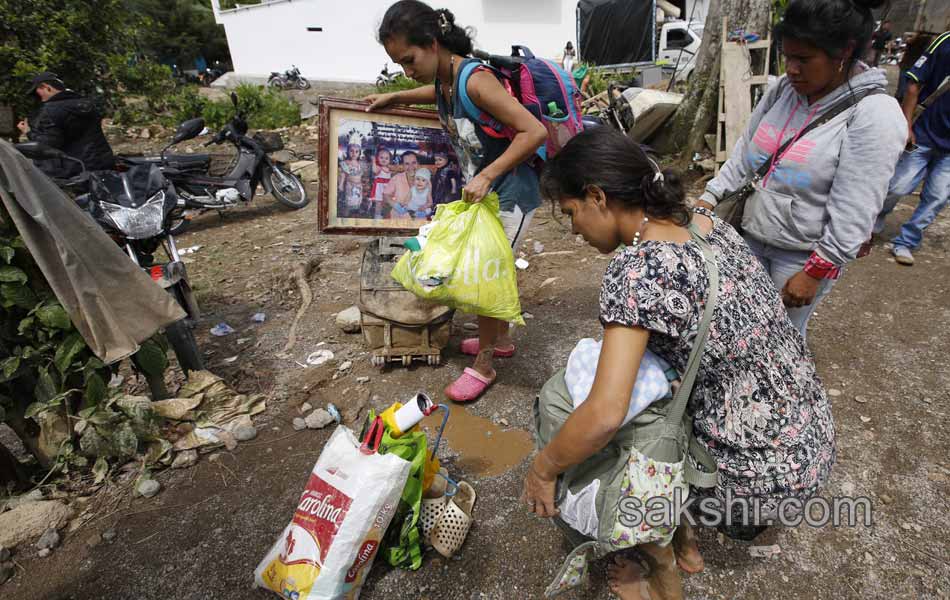
[[[894,210],[902,196],[912,193],[924,180],[924,189],[920,193],[920,203],[910,220],[901,226],[894,238],[895,246],[916,249],[924,237],[924,229],[933,223],[937,215],[950,199],[950,154],[923,146],[905,151],[897,163],[897,170],[891,178],[884,207],[877,217],[874,231],[884,229],[884,218]]]

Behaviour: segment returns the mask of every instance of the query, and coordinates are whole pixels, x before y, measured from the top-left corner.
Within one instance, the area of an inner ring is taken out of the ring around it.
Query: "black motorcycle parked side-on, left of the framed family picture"
[[[237,149],[237,160],[231,171],[222,177],[209,174],[211,156],[208,154],[168,154],[173,146],[194,139],[205,128],[204,120],[190,119],[182,123],[171,142],[159,156],[119,156],[122,166],[155,165],[169,179],[184,202],[184,218],[177,220],[172,233],[179,235],[192,217],[209,210],[233,208],[239,201],[250,202],[258,186],[273,195],[280,203],[300,209],[310,202],[300,179],[287,167],[268,155],[283,149],[278,133],[257,132],[247,135],[247,120],[238,106],[238,97],[231,93],[234,117],[205,146],[228,142]]]

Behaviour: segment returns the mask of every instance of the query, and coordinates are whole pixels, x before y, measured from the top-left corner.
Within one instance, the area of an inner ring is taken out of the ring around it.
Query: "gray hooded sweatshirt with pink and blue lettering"
[[[880,88],[881,69],[859,72],[814,104],[783,76],[768,89],[719,175],[700,198],[715,205],[739,189],[786,140],[851,90]],[[849,88],[850,83],[850,88]],[[745,235],[785,250],[816,251],[835,265],[871,236],[907,141],[907,120],[887,94],[868,96],[798,139],[746,202]]]

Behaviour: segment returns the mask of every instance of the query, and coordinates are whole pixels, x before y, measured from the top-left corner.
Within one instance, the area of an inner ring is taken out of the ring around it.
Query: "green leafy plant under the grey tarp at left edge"
[[[8,423],[39,463],[69,472],[90,459],[156,456],[160,440],[147,397],[117,397],[110,369],[90,350],[56,299],[9,215],[0,208],[0,422]],[[168,365],[160,337],[132,357],[139,371],[161,377]],[[106,471],[108,470],[106,466]]]

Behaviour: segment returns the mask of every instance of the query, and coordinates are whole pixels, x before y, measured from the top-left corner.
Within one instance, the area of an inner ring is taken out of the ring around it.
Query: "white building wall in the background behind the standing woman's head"
[[[310,79],[357,82],[375,81],[391,62],[376,42],[376,30],[392,2],[273,0],[220,11],[212,0],[239,76],[266,77],[295,64]],[[576,0],[442,0],[433,6],[448,8],[458,24],[474,27],[475,46],[492,53],[507,54],[518,43],[555,58],[568,40],[577,45]]]

